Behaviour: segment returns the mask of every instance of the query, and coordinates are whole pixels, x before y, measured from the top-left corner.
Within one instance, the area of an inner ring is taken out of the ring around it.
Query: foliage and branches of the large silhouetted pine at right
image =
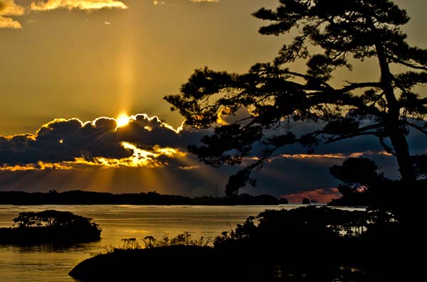
[[[272,63],[257,63],[242,75],[205,67],[179,94],[164,97],[186,124],[200,128],[215,125],[219,114],[227,119],[248,110],[246,118],[217,126],[201,139],[204,145],[189,151],[211,166],[236,165],[255,145],[263,146],[253,163],[230,177],[226,193],[233,196],[255,184],[251,172],[278,148],[299,143],[311,152],[321,142],[374,136],[396,157],[406,186],[416,189],[406,135],[411,129],[427,134],[427,98],[415,88],[427,82],[427,50],[408,45],[406,11],[390,0],[279,2],[275,10],[253,13],[270,22],[260,28],[263,35],[297,34]],[[377,60],[379,77],[332,86],[335,70],[352,70],[353,61],[369,58]],[[305,62],[305,73],[288,68],[296,60]],[[298,135],[290,121],[318,121],[318,127]]]

